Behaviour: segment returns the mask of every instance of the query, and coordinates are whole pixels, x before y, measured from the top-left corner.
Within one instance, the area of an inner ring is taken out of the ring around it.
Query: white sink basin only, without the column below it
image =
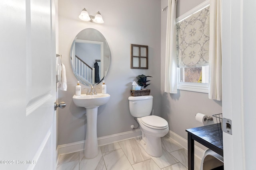
[[[81,94],[80,96],[73,96],[73,101],[78,107],[85,108],[95,108],[101,105],[104,105],[108,102],[110,98],[109,94],[95,94],[95,95],[86,95]]]

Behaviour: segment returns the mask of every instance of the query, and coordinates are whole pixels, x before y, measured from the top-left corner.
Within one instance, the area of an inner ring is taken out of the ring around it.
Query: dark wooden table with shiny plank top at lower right
[[[223,156],[222,134],[218,125],[206,125],[186,129],[188,132],[188,170],[194,170],[194,141]]]

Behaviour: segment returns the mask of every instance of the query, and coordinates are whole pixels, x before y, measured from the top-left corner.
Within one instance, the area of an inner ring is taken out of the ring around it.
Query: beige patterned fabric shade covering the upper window
[[[177,23],[178,67],[201,67],[209,60],[209,6]]]

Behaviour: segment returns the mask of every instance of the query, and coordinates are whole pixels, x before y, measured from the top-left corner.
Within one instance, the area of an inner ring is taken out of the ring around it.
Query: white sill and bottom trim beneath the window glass
[[[192,92],[208,93],[208,83],[179,82],[177,89]]]

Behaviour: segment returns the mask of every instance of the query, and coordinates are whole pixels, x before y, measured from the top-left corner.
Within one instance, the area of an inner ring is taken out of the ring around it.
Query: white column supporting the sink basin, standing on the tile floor
[[[84,156],[86,159],[92,159],[98,155],[97,114],[98,107],[86,108],[87,126],[84,146]]]

